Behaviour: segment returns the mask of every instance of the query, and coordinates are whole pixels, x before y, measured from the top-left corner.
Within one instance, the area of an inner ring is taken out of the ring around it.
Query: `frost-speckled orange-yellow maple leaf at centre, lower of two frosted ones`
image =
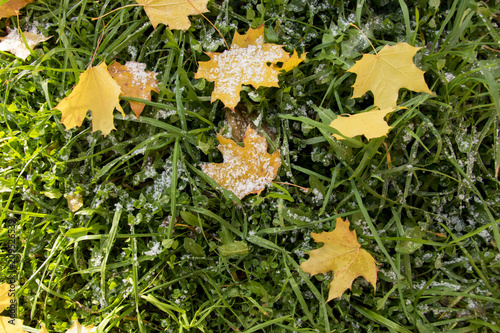
[[[260,194],[278,173],[281,165],[279,151],[267,153],[266,139],[248,127],[243,138],[244,147],[233,140],[217,134],[217,147],[223,163],[207,163],[202,170],[221,187],[233,192],[239,199],[256,193]]]

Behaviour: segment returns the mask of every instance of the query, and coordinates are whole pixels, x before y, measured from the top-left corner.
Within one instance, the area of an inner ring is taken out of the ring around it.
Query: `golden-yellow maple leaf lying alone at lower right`
[[[351,289],[353,280],[359,276],[364,277],[376,289],[378,268],[375,259],[361,249],[356,230],[349,230],[347,219],[343,221],[337,218],[337,225],[331,232],[312,232],[311,235],[315,242],[322,242],[324,245],[312,250],[309,259],[300,268],[311,276],[330,271],[335,273],[330,282],[328,301],[341,297],[347,289]]]

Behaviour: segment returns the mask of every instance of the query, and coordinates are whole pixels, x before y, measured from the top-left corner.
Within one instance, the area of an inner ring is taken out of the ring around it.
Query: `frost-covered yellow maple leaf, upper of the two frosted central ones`
[[[232,110],[240,101],[243,84],[278,87],[279,69],[268,63],[285,63],[290,58],[281,45],[264,43],[264,25],[248,29],[245,35],[235,32],[229,50],[206,54],[211,60],[200,62],[194,77],[214,81],[212,102],[220,99]]]

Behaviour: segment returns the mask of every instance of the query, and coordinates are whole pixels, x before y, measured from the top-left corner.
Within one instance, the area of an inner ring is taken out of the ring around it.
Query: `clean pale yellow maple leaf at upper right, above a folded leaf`
[[[363,54],[348,72],[356,73],[352,98],[363,96],[369,90],[379,109],[394,108],[399,89],[406,88],[432,95],[424,80],[424,71],[413,63],[419,47],[407,43],[386,45],[377,54]]]

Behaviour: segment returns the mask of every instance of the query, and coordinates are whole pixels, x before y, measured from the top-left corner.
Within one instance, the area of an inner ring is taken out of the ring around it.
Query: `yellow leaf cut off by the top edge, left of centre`
[[[170,29],[187,30],[191,26],[188,15],[208,12],[208,0],[135,0],[144,10],[156,29],[160,23]]]

